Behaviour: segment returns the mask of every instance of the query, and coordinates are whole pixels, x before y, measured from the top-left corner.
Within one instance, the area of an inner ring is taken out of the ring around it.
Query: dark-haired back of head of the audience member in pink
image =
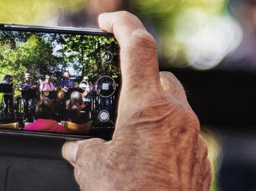
[[[50,99],[42,99],[36,105],[35,119],[55,119],[56,109]]]

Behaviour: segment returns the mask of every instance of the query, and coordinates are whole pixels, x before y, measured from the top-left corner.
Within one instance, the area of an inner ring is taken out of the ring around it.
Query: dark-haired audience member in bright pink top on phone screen
[[[64,126],[55,122],[56,109],[50,99],[42,99],[36,105],[34,123],[25,126],[25,130],[39,130],[47,132],[68,133]]]

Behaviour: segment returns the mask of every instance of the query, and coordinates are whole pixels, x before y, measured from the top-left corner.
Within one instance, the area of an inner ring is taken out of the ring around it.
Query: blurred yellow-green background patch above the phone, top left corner
[[[21,25],[51,24],[59,12],[64,9],[77,12],[86,3],[87,0],[1,0],[0,22]]]

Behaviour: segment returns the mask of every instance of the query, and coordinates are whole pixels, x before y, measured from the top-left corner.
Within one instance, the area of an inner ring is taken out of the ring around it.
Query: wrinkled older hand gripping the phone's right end
[[[122,90],[111,141],[64,145],[81,190],[210,190],[200,123],[181,83],[159,73],[154,38],[128,12],[102,14],[99,25],[121,46]]]

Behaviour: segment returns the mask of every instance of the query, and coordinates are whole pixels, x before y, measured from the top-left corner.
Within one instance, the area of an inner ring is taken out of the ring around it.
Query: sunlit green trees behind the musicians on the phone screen
[[[51,75],[52,83],[59,86],[63,73],[78,86],[84,76],[96,82],[99,74],[118,78],[118,44],[105,36],[82,36],[35,32],[0,32],[0,80],[9,74],[19,88],[25,73],[39,86],[45,75]],[[112,53],[111,62],[105,62],[104,52]],[[20,92],[19,92],[20,93]]]

